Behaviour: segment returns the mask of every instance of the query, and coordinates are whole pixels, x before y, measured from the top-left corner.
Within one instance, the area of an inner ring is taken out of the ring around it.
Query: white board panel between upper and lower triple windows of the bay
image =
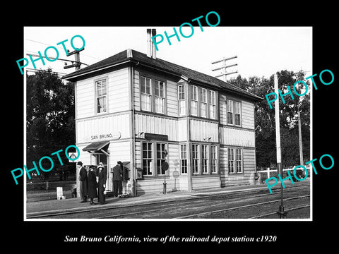
[[[218,123],[201,121],[196,119],[190,120],[190,134],[193,141],[206,141],[204,138],[210,138],[209,142],[218,142]]]

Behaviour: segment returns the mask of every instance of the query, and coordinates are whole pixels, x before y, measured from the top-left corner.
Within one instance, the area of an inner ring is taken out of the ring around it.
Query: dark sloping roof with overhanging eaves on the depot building
[[[261,97],[258,97],[252,94],[251,92],[247,92],[246,90],[243,90],[242,88],[237,87],[236,85],[232,85],[218,78],[214,78],[210,75],[194,71],[190,68],[179,66],[175,63],[170,63],[169,61],[165,61],[159,58],[157,59],[150,58],[146,54],[137,52],[133,49],[126,49],[123,52],[115,54],[114,56],[109,56],[107,59],[98,61],[97,63],[93,63],[92,65],[82,68],[73,73],[64,75],[64,77],[62,78],[65,80],[76,80],[77,78],[80,78],[82,75],[94,73],[95,71],[102,71],[105,68],[118,66],[119,64],[126,62],[134,62],[139,63],[143,66],[148,66],[150,68],[156,68],[160,71],[165,71],[167,73],[171,73],[172,75],[177,75],[178,77],[184,77],[191,81],[196,81],[198,83],[203,83],[204,85],[219,88],[220,90],[235,92],[239,95],[243,95],[245,97],[249,97],[257,101],[260,101],[262,99]]]

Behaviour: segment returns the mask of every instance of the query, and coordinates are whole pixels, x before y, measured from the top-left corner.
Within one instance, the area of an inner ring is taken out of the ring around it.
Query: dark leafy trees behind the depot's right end
[[[282,93],[287,92],[287,85],[292,90],[298,80],[304,80],[304,73],[299,71],[278,72],[278,87]],[[270,109],[265,95],[274,91],[274,76],[270,78],[250,77],[249,80],[238,75],[237,78],[229,81],[244,90],[263,99],[257,102],[254,109],[254,123],[256,127],[256,164],[258,167],[272,167],[276,163],[275,148],[275,113],[274,107]],[[303,85],[296,86],[299,94],[302,94]],[[284,97],[283,104],[279,97],[280,109],[280,140],[283,149],[283,164],[285,167],[299,165],[299,139],[297,111],[301,111],[302,119],[302,143],[304,158],[309,158],[309,93],[302,97],[290,95]]]

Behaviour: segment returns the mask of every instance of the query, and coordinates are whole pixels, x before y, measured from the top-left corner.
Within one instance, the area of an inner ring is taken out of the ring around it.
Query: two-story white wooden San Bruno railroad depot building
[[[254,183],[260,97],[158,59],[154,48],[126,49],[63,78],[75,83],[78,160],[105,165],[107,191],[117,161],[130,169],[132,195],[160,193],[164,179],[167,192]]]

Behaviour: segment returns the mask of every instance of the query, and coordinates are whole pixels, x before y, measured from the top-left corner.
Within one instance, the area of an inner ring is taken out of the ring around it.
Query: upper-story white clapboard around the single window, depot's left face
[[[86,78],[76,83],[76,118],[82,119],[96,115],[95,80],[107,78],[108,113],[129,109],[128,68],[112,71],[94,78]]]

